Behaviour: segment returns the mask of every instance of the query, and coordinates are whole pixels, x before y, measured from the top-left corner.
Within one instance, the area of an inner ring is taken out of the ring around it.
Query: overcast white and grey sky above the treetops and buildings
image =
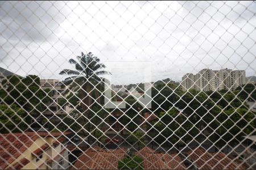
[[[150,62],[152,80],[181,80],[201,69],[256,75],[256,2],[0,2],[0,67],[64,79],[68,59]],[[108,66],[108,65],[107,65]],[[122,84],[143,71],[116,69]]]

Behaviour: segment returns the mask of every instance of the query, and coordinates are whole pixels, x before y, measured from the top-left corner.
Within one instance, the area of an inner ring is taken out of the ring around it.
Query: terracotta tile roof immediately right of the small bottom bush
[[[144,169],[185,169],[185,165],[177,154],[156,153],[149,147],[137,152],[143,159]]]

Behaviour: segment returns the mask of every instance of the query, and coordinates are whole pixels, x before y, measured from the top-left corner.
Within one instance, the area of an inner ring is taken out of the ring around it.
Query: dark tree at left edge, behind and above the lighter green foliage
[[[39,116],[44,104],[50,101],[49,90],[40,88],[40,78],[36,75],[27,75],[26,78],[16,75],[7,76],[2,81],[2,87],[1,103],[22,107],[29,114],[25,118],[28,124],[31,123],[32,114]]]

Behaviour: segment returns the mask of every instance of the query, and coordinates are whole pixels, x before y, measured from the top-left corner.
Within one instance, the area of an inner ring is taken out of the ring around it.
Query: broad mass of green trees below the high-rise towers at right
[[[193,89],[184,92],[174,84],[158,84],[152,91],[151,112],[160,121],[147,124],[147,134],[166,146],[182,146],[192,139],[203,142],[207,135],[216,145],[235,145],[256,128],[253,121],[256,113],[245,102],[255,101],[252,99],[255,92],[254,84],[236,91],[214,92]]]

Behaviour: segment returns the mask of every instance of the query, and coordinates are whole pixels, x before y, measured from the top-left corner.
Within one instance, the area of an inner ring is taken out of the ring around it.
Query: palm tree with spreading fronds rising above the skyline
[[[86,118],[89,118],[89,109],[92,105],[93,94],[98,98],[98,86],[102,87],[104,79],[102,75],[111,74],[105,71],[105,65],[100,63],[100,59],[88,54],[81,53],[75,59],[69,59],[69,63],[75,65],[76,70],[64,69],[60,71],[61,75],[71,75],[64,80],[69,85],[69,90],[76,91],[80,94],[81,108]],[[106,82],[106,79],[105,79]]]

